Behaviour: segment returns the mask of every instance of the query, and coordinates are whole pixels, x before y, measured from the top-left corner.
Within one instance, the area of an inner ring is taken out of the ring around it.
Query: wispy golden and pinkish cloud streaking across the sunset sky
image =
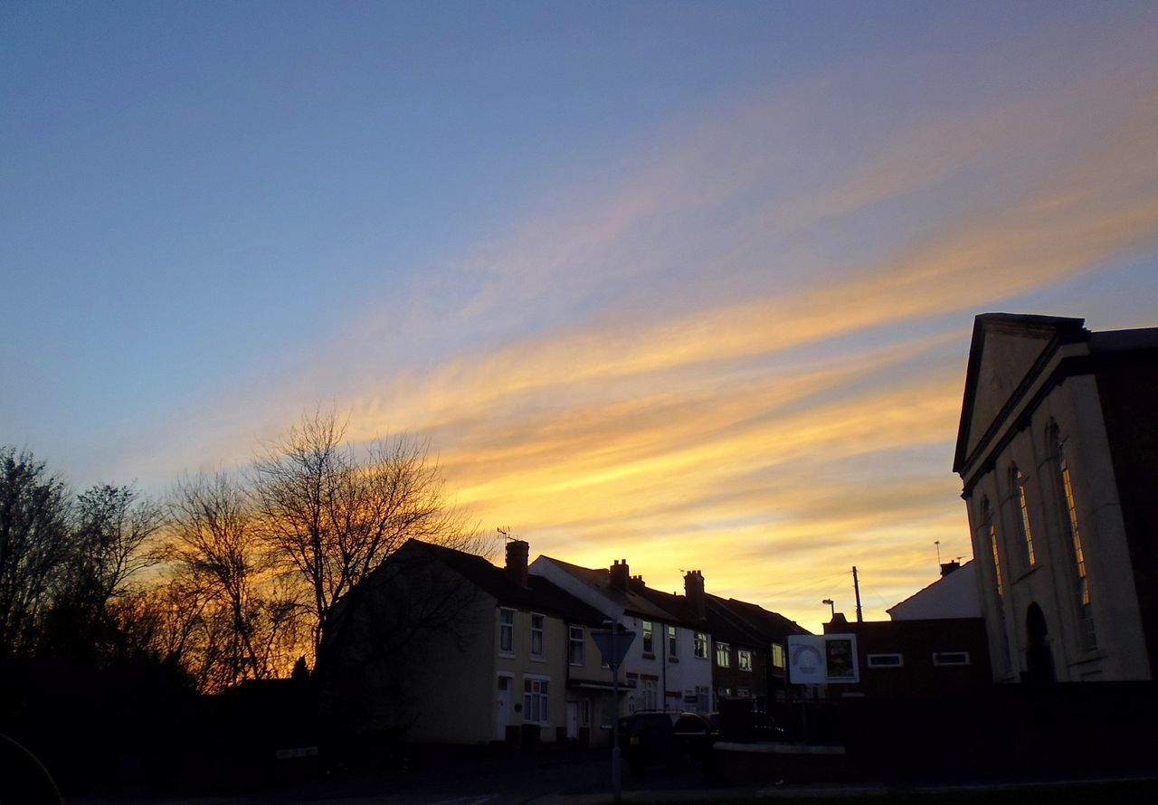
[[[812,625],[857,564],[882,616],[933,540],[968,550],[972,315],[1155,250],[1141,46],[930,117],[833,75],[689,116],[383,300],[334,345],[343,378],[320,357],[227,408],[248,449],[332,389],[356,439],[430,437],[459,500],[535,551],[664,588],[698,568]],[[844,107],[864,136],[833,131]]]

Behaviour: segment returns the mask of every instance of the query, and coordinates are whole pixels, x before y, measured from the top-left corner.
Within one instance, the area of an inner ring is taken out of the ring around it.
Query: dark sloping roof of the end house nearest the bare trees
[[[529,575],[527,586],[518,584],[505,569],[482,556],[444,548],[422,540],[408,540],[400,550],[420,551],[441,562],[468,581],[498,599],[499,603],[542,609],[570,621],[599,625],[603,614],[542,576]]]

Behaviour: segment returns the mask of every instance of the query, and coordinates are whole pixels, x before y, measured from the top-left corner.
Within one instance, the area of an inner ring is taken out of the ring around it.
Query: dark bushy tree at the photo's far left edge
[[[64,482],[30,453],[0,447],[0,657],[31,651],[68,558]]]

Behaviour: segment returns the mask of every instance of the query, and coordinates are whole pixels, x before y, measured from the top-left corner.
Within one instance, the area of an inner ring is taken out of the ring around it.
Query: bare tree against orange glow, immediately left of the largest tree
[[[225,474],[186,477],[169,512],[170,592],[183,591],[199,608],[169,639],[179,641],[199,686],[215,690],[277,675],[301,608],[258,539],[244,490]]]

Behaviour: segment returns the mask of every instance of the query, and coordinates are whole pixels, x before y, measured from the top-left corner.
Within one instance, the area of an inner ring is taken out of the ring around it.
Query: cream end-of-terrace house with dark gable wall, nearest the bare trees
[[[602,615],[529,576],[527,551],[507,543],[498,568],[406,542],[336,608],[318,660],[327,711],[352,734],[422,742],[578,738],[589,712],[569,705],[567,679],[598,657]]]

